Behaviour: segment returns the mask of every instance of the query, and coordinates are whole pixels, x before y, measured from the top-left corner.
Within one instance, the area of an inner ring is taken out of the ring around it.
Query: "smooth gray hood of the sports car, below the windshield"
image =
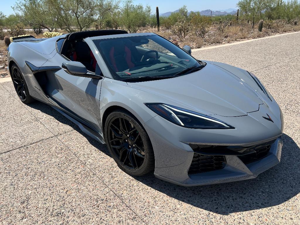
[[[158,95],[160,103],[175,102],[206,115],[245,116],[258,111],[263,101],[238,75],[207,63],[202,70],[184,76],[128,85]]]

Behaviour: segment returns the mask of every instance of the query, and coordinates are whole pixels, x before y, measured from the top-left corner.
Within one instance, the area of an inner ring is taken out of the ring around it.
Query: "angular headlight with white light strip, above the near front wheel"
[[[162,103],[145,103],[153,112],[179,126],[194,129],[234,129],[210,116]]]

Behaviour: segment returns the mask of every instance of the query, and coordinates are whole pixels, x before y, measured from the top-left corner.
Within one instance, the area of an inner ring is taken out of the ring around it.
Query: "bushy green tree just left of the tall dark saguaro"
[[[132,0],[127,0],[121,7],[119,25],[130,33],[136,33],[140,27],[147,25],[150,19],[151,8],[142,4],[134,5]]]

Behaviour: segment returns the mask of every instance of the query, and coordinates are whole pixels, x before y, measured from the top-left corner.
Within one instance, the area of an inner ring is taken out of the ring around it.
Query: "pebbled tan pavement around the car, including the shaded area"
[[[243,182],[186,188],[128,176],[106,146],[0,83],[0,224],[299,224],[299,40],[193,52],[254,71],[283,110],[281,163]]]

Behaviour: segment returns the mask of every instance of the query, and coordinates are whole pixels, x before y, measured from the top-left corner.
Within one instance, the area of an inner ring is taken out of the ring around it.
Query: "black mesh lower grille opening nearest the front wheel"
[[[220,170],[225,167],[225,164],[226,159],[223,155],[200,155],[194,153],[188,174]]]

